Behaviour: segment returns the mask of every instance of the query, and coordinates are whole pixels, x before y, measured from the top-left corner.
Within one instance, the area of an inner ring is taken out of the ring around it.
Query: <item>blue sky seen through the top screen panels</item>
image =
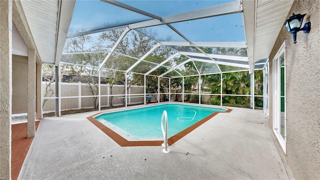
[[[160,17],[209,7],[230,0],[119,0]],[[77,0],[68,34],[123,25],[144,20],[144,16],[99,0]],[[191,41],[245,41],[242,14],[235,13],[171,23]],[[157,31],[157,40],[185,41],[166,25],[147,27]]]

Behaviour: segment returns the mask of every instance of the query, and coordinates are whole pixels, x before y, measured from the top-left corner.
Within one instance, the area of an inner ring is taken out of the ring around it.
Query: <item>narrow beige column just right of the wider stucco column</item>
[[[36,64],[36,119],[42,119],[42,64]]]

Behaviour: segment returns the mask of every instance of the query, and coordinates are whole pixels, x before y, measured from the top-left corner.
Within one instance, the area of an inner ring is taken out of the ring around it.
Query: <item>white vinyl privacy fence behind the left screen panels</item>
[[[47,94],[45,97],[45,87],[46,83],[42,82],[42,103],[44,99],[47,99],[43,106],[43,113],[52,112],[55,109],[55,83],[51,83],[51,89],[53,90],[53,94],[49,96],[51,93]],[[95,89],[95,87],[92,85]],[[109,84],[101,84],[100,87],[100,105],[101,107],[110,106],[109,96],[113,96],[112,105],[118,106],[123,105],[125,103],[125,86],[124,85],[112,85],[112,94],[110,91]],[[128,88],[128,104],[137,104],[142,103],[144,100],[144,87],[131,85]],[[98,96],[98,95],[94,95]],[[93,97],[87,84],[81,82],[61,82],[61,110],[69,110],[69,109],[81,109],[81,108],[93,108]],[[131,98],[130,98],[131,97]],[[157,96],[153,95],[151,101],[157,101]],[[96,100],[96,104],[98,104],[98,98]]]

